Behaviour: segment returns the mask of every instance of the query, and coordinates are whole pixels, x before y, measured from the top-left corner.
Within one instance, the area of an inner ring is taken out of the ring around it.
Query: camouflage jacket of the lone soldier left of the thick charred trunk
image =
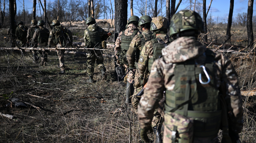
[[[95,31],[95,29],[97,28],[97,25],[96,24],[91,24],[88,26],[88,29],[90,31]],[[87,28],[86,28],[87,29]],[[88,31],[85,29],[85,32],[84,32],[84,39],[85,39],[85,43],[88,42],[89,40],[89,35],[88,35]],[[99,33],[100,33],[100,36],[102,36],[102,40],[107,40],[107,38],[109,37],[107,35],[107,31],[105,31],[104,29],[98,27],[98,30],[99,30]]]

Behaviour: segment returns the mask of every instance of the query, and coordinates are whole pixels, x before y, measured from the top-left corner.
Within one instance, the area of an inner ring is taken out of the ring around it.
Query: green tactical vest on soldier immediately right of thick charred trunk
[[[131,36],[125,36],[124,30],[122,31],[121,35],[121,50],[118,51],[118,60],[120,60],[120,63],[122,64],[128,64],[126,53],[130,47],[130,44],[132,42],[133,37],[138,33],[139,30],[134,30]]]

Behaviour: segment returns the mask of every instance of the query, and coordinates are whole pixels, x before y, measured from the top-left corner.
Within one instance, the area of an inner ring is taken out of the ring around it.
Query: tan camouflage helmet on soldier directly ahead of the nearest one
[[[151,22],[150,30],[167,29],[169,28],[169,22],[165,17],[154,17]]]

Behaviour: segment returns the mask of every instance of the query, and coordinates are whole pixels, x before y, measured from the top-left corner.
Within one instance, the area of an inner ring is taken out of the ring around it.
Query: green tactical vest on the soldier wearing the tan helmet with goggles
[[[167,46],[170,42],[165,43],[162,39],[156,38],[156,39],[151,39],[152,45],[153,45],[153,57],[149,58],[149,63],[148,63],[148,69],[149,72],[151,70],[153,62],[158,59],[160,56],[162,56],[162,49]]]

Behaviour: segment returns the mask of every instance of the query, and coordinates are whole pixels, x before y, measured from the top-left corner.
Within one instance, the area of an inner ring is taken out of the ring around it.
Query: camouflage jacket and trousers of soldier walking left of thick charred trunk
[[[96,28],[97,28],[96,24],[91,24],[88,26],[88,29],[90,31],[95,31]],[[99,35],[101,36],[99,38],[101,38],[102,40],[107,40],[107,38],[109,37],[107,35],[108,32],[103,30],[100,27],[98,27],[97,30],[99,31]],[[85,40],[85,44],[88,45],[90,39],[89,39],[89,34],[88,34],[87,30],[84,31],[84,40]],[[90,48],[93,48],[93,47],[90,47]],[[103,47],[100,47],[100,49],[103,49]],[[104,56],[102,54],[103,51],[102,50],[89,50],[89,52],[90,53],[87,55],[88,75],[93,75],[95,62],[97,63],[99,70],[106,69],[103,64],[103,62],[104,62]]]

